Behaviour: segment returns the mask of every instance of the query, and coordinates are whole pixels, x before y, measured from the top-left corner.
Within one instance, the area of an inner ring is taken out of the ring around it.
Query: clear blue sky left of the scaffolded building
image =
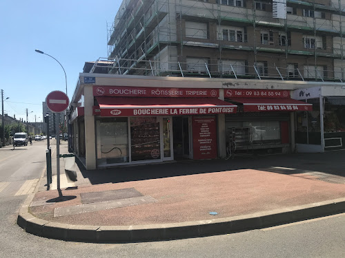
[[[54,91],[72,98],[84,62],[107,56],[107,22],[121,0],[1,0],[0,89],[5,113],[29,122],[42,118],[42,102]],[[1,96],[0,96],[1,102]],[[0,110],[1,112],[1,110]]]

